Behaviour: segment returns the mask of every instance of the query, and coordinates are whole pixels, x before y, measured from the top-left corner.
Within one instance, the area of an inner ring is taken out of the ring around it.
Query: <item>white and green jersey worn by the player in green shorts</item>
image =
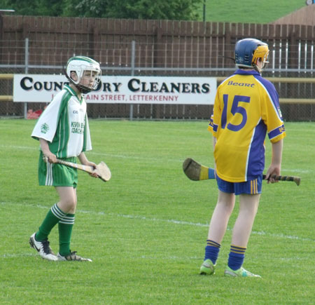
[[[38,118],[31,137],[48,141],[57,158],[78,156],[92,149],[84,97],[64,86]]]

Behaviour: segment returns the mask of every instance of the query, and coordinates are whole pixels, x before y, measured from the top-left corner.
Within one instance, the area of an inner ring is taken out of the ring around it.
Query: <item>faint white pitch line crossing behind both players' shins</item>
[[[49,207],[46,207],[44,205],[33,205],[29,203],[8,203],[8,202],[0,202],[1,205],[21,205],[23,207],[30,207],[30,208],[41,208],[48,210]],[[168,222],[170,224],[179,224],[184,226],[202,226],[202,227],[208,227],[209,224],[201,224],[200,222],[184,222],[181,220],[176,219],[160,219],[160,218],[151,218],[146,216],[140,216],[140,215],[124,215],[124,214],[115,214],[115,213],[105,213],[105,212],[95,212],[95,211],[89,211],[89,210],[77,210],[79,213],[83,214],[92,214],[92,215],[109,215],[111,217],[123,217],[123,218],[129,218],[129,219],[140,219],[140,220],[146,220],[148,222]],[[231,229],[228,229],[230,231]],[[311,241],[315,242],[314,239],[311,238],[302,238],[300,236],[290,236],[285,235],[283,233],[268,233],[265,231],[252,231],[252,234],[260,235],[260,236],[267,236],[267,237],[274,237],[274,238],[282,238],[282,239],[290,239],[290,240],[302,240],[302,241]]]

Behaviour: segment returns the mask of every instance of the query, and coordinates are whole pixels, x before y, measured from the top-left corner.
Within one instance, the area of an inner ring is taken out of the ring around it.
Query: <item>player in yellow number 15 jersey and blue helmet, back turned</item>
[[[244,255],[258,209],[265,168],[265,137],[272,143],[267,170],[280,175],[283,137],[286,132],[276,89],[260,73],[269,49],[258,39],[242,39],[235,45],[237,71],[218,86],[209,131],[214,138],[218,202],[209,225],[201,274],[213,274],[221,242],[239,195],[239,215],[225,276],[257,276],[243,268]]]

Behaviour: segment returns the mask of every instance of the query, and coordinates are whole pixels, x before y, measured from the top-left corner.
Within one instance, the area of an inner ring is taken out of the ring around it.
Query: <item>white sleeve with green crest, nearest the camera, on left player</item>
[[[42,138],[48,142],[52,142],[57,130],[62,96],[63,93],[61,91],[52,99],[48,107],[46,107],[38,118],[34,130],[31,133],[31,137],[35,140]]]

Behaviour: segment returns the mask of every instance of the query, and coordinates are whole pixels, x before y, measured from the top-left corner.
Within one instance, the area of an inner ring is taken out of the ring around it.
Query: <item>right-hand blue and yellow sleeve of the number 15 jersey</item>
[[[263,79],[262,87],[262,120],[267,126],[267,134],[270,142],[276,143],[286,137],[286,130],[280,110],[279,95],[276,88],[269,81]]]

